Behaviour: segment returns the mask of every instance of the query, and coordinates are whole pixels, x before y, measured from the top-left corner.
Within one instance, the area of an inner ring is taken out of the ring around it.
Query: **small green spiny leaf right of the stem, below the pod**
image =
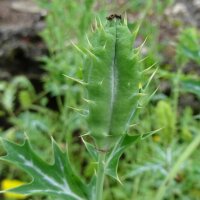
[[[120,182],[117,174],[119,158],[121,157],[124,150],[136,141],[138,141],[140,137],[141,135],[130,136],[128,134],[125,134],[121,137],[115,148],[111,151],[111,153],[108,154],[106,158],[105,173],[108,176],[111,176],[112,178]]]

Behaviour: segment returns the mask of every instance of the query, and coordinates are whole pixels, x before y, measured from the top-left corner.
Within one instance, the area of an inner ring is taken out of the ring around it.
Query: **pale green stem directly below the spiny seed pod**
[[[97,169],[97,182],[96,182],[96,200],[102,200],[103,185],[104,185],[104,160],[105,152],[99,152],[99,161]]]

